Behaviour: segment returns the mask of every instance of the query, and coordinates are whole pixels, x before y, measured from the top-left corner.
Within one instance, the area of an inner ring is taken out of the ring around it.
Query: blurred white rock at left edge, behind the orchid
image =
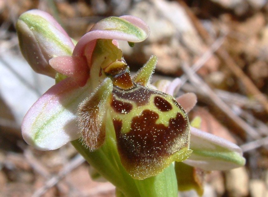
[[[21,125],[28,109],[55,80],[35,73],[22,57],[5,52],[1,58],[0,96]]]

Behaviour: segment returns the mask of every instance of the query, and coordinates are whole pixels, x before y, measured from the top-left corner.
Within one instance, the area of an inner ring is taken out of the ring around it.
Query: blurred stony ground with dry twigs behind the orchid
[[[177,95],[194,92],[201,129],[240,145],[245,167],[207,175],[203,196],[268,196],[268,2],[266,0],[0,0],[0,196],[114,196],[90,180],[71,145],[38,151],[22,139],[26,111],[54,80],[23,59],[15,23],[23,12],[49,12],[76,40],[100,19],[131,14],[151,35],[130,48],[132,71],[158,56],[153,81],[180,77]],[[181,197],[197,196],[195,191]]]

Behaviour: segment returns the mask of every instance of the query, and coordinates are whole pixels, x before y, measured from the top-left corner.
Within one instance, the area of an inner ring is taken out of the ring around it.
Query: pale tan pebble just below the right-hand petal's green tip
[[[229,196],[247,196],[249,193],[248,185],[249,178],[244,166],[226,172],[226,190]]]

